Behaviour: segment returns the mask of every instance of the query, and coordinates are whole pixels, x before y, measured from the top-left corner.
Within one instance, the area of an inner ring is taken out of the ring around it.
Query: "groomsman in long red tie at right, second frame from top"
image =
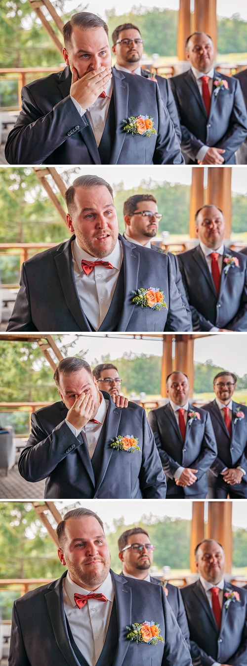
[[[247,330],[247,256],[224,244],[226,224],[218,206],[195,216],[199,244],[178,254],[195,331]]]

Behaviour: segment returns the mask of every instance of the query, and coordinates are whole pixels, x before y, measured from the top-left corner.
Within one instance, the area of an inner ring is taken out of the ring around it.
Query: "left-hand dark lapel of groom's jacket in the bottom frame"
[[[47,593],[45,594],[45,601],[47,602],[47,609],[59,650],[61,651],[63,657],[65,657],[69,666],[80,666],[79,661],[77,660],[77,657],[75,656],[75,653],[71,647],[65,620],[65,609],[63,605],[63,578],[65,578],[66,575],[67,571],[65,571],[63,576],[55,583],[55,587],[53,587],[51,591],[48,589]]]

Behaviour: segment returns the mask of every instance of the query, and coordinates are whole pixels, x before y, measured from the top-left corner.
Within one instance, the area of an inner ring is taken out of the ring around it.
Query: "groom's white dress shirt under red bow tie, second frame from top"
[[[117,240],[115,248],[103,261],[109,261],[113,268],[95,266],[89,275],[81,268],[81,260],[99,261],[79,246],[77,238],[71,244],[75,283],[83,312],[97,331],[107,315],[119,277],[123,261],[121,242]]]

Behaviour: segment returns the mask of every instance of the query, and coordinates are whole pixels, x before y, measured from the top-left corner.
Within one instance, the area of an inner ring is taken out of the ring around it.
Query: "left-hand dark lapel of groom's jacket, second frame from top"
[[[79,296],[77,294],[77,288],[75,285],[75,277],[73,271],[73,259],[71,252],[71,242],[75,238],[69,240],[65,243],[63,248],[61,247],[57,250],[57,255],[55,256],[55,262],[57,266],[57,272],[59,274],[59,280],[61,282],[61,287],[63,289],[63,295],[71,314],[73,315],[75,321],[77,322],[81,330],[91,331],[89,322],[85,317],[85,314],[81,308],[79,301]]]

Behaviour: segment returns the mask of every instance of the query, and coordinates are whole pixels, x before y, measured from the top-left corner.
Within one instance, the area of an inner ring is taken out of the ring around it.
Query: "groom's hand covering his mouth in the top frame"
[[[112,76],[111,67],[99,67],[97,71],[92,69],[79,79],[77,69],[72,67],[70,95],[76,99],[82,109],[88,109],[103,93]]]

